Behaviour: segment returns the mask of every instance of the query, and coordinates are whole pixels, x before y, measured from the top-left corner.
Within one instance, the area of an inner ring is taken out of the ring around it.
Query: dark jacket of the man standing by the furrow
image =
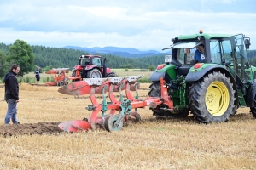
[[[19,84],[16,74],[13,71],[9,71],[7,75],[5,75],[3,82],[5,83],[5,100],[15,99],[19,100]]]

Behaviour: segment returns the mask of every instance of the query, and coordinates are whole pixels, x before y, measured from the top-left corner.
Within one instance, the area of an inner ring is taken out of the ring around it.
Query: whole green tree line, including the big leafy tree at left
[[[256,50],[248,50],[251,65],[256,65]],[[20,76],[35,71],[37,66],[49,70],[51,68],[70,68],[79,65],[79,56],[90,54],[81,50],[67,48],[49,48],[45,46],[30,46],[27,42],[16,40],[14,44],[0,43],[0,77],[3,77],[12,64],[20,65]],[[154,70],[157,65],[164,63],[164,54],[155,56],[125,58],[112,54],[98,54],[102,59],[107,58],[110,68],[135,68]]]

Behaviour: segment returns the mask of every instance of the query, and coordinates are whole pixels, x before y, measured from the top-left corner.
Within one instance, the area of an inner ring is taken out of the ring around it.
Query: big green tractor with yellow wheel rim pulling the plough
[[[166,82],[173,109],[166,105],[151,108],[157,117],[184,117],[193,114],[199,122],[227,122],[239,107],[250,107],[256,118],[256,67],[249,64],[250,38],[206,34],[183,35],[172,39],[172,55],[150,75],[148,95],[160,97],[160,77]],[[195,54],[204,47],[201,59]]]

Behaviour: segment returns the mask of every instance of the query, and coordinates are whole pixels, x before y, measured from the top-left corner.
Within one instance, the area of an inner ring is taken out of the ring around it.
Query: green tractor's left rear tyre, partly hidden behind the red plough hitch
[[[153,82],[150,86],[149,86],[150,90],[148,92],[148,96],[149,97],[160,97],[161,95],[161,88],[160,88],[160,82]],[[166,107],[167,106],[163,106]],[[153,111],[153,115],[159,118],[180,118],[180,117],[186,117],[189,115],[189,111],[185,110],[185,111],[180,111],[180,112],[171,112],[171,111],[164,111],[164,110],[160,110],[160,106],[158,106],[155,109],[152,109]]]

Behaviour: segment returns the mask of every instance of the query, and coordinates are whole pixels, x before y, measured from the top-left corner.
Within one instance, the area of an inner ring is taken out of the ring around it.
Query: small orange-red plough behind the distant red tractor
[[[45,82],[47,86],[64,86],[67,84],[69,68],[57,68],[46,71],[46,74],[54,75],[53,82]]]

